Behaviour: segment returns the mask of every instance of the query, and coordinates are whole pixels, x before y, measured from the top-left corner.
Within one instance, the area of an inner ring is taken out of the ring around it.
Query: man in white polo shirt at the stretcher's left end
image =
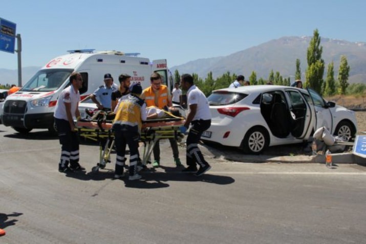
[[[72,172],[85,170],[79,164],[79,138],[75,131],[73,117],[80,119],[78,104],[80,101],[79,88],[82,87],[81,75],[74,72],[70,76],[70,86],[64,88],[58,97],[54,118],[58,137],[61,144],[61,158],[58,171]],[[69,167],[70,163],[70,167]]]

